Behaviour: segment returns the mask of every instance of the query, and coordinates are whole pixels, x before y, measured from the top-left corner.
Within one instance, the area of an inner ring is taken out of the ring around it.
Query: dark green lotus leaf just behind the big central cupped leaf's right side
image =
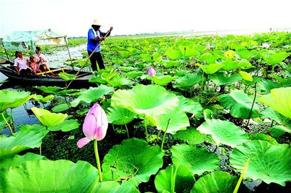
[[[199,73],[187,74],[184,77],[177,78],[176,82],[177,83],[173,86],[174,88],[189,91],[194,84],[202,82],[202,75]]]

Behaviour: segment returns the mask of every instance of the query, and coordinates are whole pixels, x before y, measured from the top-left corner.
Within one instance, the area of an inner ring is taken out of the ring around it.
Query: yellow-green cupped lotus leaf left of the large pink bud
[[[31,111],[33,111],[33,114],[35,114],[40,123],[43,123],[43,125],[47,127],[56,126],[57,124],[62,123],[62,121],[65,121],[65,118],[67,118],[67,114],[55,114],[37,107],[31,108]]]

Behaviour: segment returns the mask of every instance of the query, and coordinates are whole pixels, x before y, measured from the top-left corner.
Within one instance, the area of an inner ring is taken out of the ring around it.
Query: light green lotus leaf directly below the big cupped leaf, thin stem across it
[[[178,108],[171,111],[169,110],[165,114],[148,116],[148,120],[152,122],[158,130],[171,134],[175,134],[176,131],[185,130],[190,126],[187,115]]]

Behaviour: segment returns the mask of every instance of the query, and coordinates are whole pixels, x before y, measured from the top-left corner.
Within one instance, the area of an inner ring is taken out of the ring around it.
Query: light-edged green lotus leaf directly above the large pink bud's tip
[[[76,107],[80,102],[92,103],[97,101],[97,99],[101,98],[105,94],[109,94],[114,89],[112,87],[107,87],[104,84],[101,84],[97,88],[90,87],[89,89],[85,90],[84,92],[80,92],[80,95],[77,99],[71,102],[72,107]]]

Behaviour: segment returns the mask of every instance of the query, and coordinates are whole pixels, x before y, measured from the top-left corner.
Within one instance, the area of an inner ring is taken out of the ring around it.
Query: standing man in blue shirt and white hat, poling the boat
[[[113,27],[110,27],[107,33],[102,33],[100,31],[100,26],[101,24],[99,23],[99,21],[97,19],[94,19],[94,22],[92,23],[92,28],[90,28],[88,31],[87,51],[88,55],[91,55],[94,52],[90,57],[90,62],[93,71],[97,70],[96,61],[98,62],[99,70],[105,69],[104,62],[100,54],[101,46],[99,44],[101,43],[101,41],[105,40],[105,38],[109,36],[111,31],[113,30]]]

